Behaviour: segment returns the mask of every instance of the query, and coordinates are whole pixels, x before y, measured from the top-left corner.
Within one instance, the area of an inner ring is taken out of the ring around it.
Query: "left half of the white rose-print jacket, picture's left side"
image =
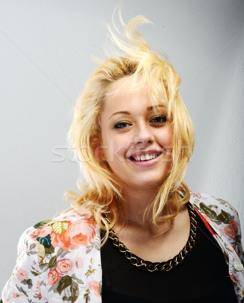
[[[70,211],[22,235],[3,302],[101,302],[100,230]]]

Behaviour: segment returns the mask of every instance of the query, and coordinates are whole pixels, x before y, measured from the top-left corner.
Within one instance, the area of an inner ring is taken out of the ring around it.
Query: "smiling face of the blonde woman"
[[[158,188],[171,166],[172,129],[161,104],[152,106],[146,86],[130,78],[110,85],[101,114],[100,158],[124,188]]]

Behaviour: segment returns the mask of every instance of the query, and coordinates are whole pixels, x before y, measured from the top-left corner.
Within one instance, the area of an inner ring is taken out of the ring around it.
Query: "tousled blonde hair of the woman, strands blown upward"
[[[161,101],[168,109],[173,129],[172,164],[170,172],[153,202],[144,212],[157,226],[160,221],[172,222],[179,207],[189,200],[189,190],[183,182],[188,161],[192,155],[194,132],[192,122],[179,94],[180,77],[173,66],[160,54],[155,54],[143,36],[136,30],[139,24],[150,23],[143,16],[137,16],[124,25],[124,34],[115,34],[109,26],[110,39],[114,44],[115,56],[102,63],[88,79],[74,111],[74,120],[68,139],[74,148],[75,157],[86,184],[78,180],[82,194],[65,193],[73,200],[72,208],[90,212],[99,226],[108,230],[118,218],[125,217],[126,205],[120,184],[113,171],[97,157],[101,143],[100,115],[104,109],[105,94],[111,83],[125,76],[132,81],[147,83],[152,102]],[[120,35],[120,37],[119,37]],[[116,49],[117,47],[117,49]],[[180,186],[184,194],[179,196]],[[103,214],[110,213],[108,222]],[[125,219],[126,220],[126,219]]]

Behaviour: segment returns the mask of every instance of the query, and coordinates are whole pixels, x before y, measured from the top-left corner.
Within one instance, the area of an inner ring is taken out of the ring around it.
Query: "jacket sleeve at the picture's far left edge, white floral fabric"
[[[2,293],[4,303],[42,302],[37,245],[35,239],[30,236],[33,230],[33,227],[27,229],[19,240],[17,263]]]

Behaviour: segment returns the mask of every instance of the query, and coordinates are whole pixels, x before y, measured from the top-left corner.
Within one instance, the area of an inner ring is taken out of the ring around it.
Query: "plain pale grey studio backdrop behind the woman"
[[[68,206],[77,164],[66,135],[74,103],[105,59],[111,0],[0,1],[1,265],[0,291],[15,265],[21,233]],[[244,231],[243,49],[240,0],[124,0],[125,22],[144,15],[140,31],[178,71],[196,145],[185,181],[229,201]]]

